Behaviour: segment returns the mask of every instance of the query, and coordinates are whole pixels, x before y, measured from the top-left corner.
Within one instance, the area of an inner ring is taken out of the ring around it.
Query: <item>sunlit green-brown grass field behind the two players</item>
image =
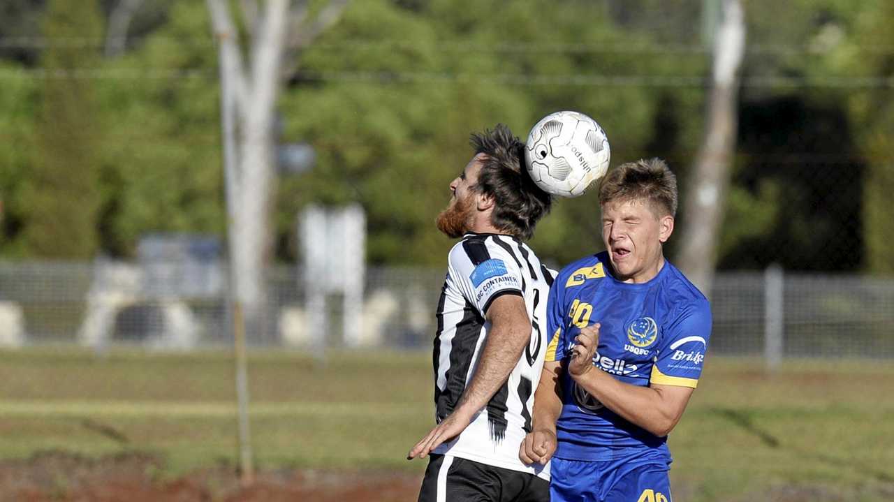
[[[232,358],[0,352],[0,457],[147,452],[159,476],[234,464]],[[249,357],[259,469],[421,473],[409,447],[433,423],[430,355]],[[671,434],[676,500],[894,499],[894,363],[709,358]]]

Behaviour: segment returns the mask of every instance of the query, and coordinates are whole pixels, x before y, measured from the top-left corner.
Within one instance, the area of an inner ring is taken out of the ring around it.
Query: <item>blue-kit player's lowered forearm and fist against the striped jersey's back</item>
[[[556,451],[556,421],[561,414],[561,363],[544,363],[534,393],[532,429],[519,448],[519,459],[527,465],[546,464]]]

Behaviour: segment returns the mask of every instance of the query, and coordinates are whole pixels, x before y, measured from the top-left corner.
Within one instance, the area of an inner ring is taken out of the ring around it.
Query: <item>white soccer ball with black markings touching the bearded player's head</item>
[[[554,196],[583,195],[608,171],[609,157],[603,128],[583,113],[550,113],[527,135],[527,172],[538,187]]]

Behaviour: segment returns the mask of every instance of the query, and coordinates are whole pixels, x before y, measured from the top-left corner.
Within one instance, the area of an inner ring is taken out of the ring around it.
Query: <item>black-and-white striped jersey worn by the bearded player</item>
[[[531,338],[509,380],[475,415],[459,438],[443,444],[434,453],[536,473],[549,479],[548,468],[521,463],[519,446],[531,431],[534,390],[549,341],[546,299],[554,276],[555,272],[541,264],[530,247],[508,235],[468,233],[451,249],[434,338],[437,421],[451,414],[475,374],[478,357],[491,329],[486,316],[494,298],[502,295],[524,298]]]

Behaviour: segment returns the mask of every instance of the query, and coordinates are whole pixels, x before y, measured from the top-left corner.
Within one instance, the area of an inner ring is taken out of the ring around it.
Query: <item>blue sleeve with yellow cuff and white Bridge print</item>
[[[711,322],[707,301],[685,309],[664,332],[649,381],[695,389],[711,337]]]

